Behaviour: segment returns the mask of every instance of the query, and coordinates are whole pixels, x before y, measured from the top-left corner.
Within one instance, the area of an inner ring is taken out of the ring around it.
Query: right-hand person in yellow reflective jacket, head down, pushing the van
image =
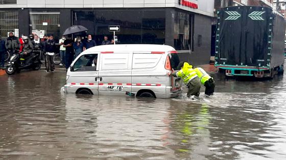
[[[194,69],[198,77],[200,78],[201,83],[206,87],[205,88],[205,94],[206,95],[213,95],[214,87],[216,87],[216,84],[214,84],[214,80],[212,77],[210,77],[205,70],[202,68],[196,68]]]

